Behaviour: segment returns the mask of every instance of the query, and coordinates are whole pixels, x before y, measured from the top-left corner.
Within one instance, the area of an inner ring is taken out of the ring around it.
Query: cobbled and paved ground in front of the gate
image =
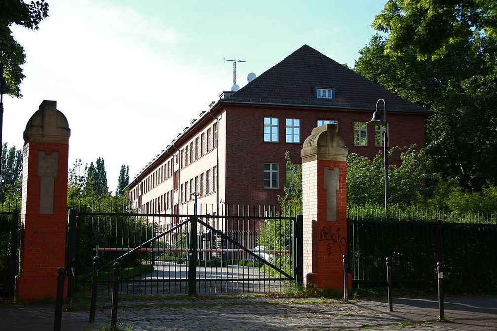
[[[497,330],[497,297],[454,296],[445,300],[450,323],[435,322],[434,297],[394,298],[388,313],[383,298],[348,304],[319,298],[181,297],[119,303],[122,327],[153,330]],[[110,299],[109,299],[110,301]],[[88,310],[63,312],[62,330],[95,330],[108,325],[110,307],[98,304],[95,323]],[[53,330],[54,305],[0,305],[0,330]],[[121,330],[124,330],[121,329]]]

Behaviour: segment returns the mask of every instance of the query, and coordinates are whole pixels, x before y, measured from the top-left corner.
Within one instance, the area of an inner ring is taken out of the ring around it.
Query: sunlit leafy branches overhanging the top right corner
[[[403,55],[414,47],[419,59],[439,58],[461,41],[497,37],[497,2],[389,0],[372,26],[389,35],[385,47],[389,54]]]

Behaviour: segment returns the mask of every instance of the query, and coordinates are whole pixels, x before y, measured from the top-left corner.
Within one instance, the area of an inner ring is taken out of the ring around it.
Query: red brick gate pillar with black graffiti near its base
[[[305,282],[322,289],[343,289],[347,147],[336,125],[314,128],[301,156]]]

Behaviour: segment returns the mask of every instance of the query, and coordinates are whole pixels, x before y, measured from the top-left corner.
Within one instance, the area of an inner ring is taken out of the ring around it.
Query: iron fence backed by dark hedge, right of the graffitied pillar
[[[385,258],[392,258],[394,285],[436,288],[436,263],[443,261],[448,291],[497,291],[495,215],[395,212],[348,213],[352,284],[385,284]]]

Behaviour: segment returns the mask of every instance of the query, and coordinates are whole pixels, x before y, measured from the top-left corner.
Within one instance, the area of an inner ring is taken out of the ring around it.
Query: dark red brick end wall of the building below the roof
[[[374,146],[374,126],[368,125],[368,146],[353,145],[353,122],[367,122],[373,111],[316,109],[304,107],[238,106],[227,108],[226,119],[226,202],[277,204],[277,195],[283,196],[286,182],[285,151],[292,161],[301,163],[302,142],[316,127],[317,120],[338,121],[338,133],[343,137],[349,153],[372,158],[383,147]],[[389,146],[424,146],[424,115],[387,113]],[[278,118],[278,142],[264,142],[264,117]],[[287,143],[286,119],[301,120],[300,143]],[[390,159],[399,163],[399,156]],[[278,189],[264,189],[263,164],[278,163]]]

